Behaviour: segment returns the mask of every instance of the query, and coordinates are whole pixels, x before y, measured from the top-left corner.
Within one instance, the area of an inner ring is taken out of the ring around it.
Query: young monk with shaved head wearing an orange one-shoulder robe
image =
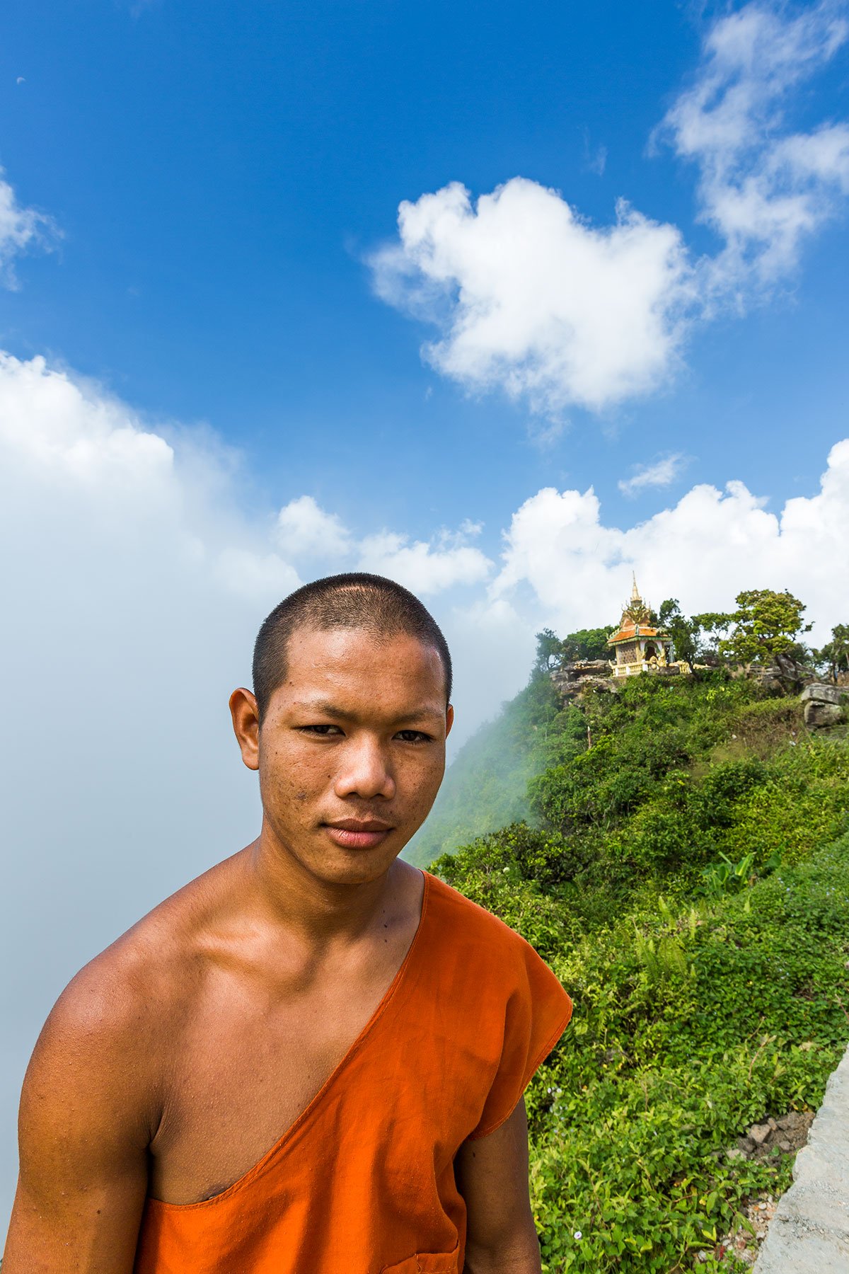
[[[333,576],[269,615],[230,698],[260,836],[52,1010],[4,1274],[538,1274],[522,1093],[569,998],[398,859],[449,701],[397,583]]]

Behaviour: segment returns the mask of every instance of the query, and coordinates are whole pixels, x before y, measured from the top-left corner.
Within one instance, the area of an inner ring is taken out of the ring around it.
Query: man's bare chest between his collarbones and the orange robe
[[[308,989],[221,981],[173,1043],[150,1192],[168,1203],[220,1194],[270,1150],[319,1094],[372,1022],[400,961]]]

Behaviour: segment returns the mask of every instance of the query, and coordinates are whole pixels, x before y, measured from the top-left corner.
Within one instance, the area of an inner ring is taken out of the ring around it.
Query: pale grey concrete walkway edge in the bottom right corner
[[[796,1157],[755,1274],[849,1274],[849,1050]]]

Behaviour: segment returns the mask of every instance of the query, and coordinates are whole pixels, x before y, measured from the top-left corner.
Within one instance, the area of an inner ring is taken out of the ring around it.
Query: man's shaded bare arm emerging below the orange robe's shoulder
[[[467,1274],[540,1274],[523,1099],[499,1129],[460,1148],[456,1171],[468,1215]]]

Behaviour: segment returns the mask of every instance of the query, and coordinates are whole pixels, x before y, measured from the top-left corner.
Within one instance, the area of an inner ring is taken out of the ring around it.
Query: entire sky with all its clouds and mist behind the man
[[[631,571],[849,618],[849,8],[6,0],[0,45],[5,1200],[57,991],[255,833],[225,701],[299,581],[424,596],[457,740]]]

